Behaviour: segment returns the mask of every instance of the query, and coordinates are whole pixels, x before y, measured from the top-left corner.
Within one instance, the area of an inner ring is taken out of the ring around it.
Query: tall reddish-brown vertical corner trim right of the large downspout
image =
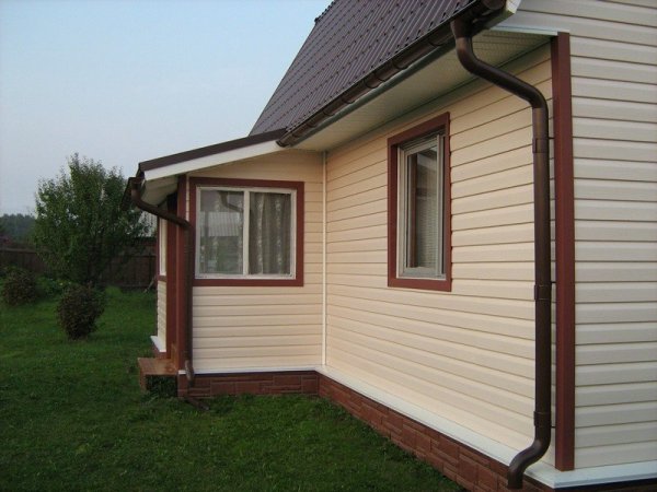
[[[552,39],[556,273],[555,466],[575,468],[575,191],[570,36]]]

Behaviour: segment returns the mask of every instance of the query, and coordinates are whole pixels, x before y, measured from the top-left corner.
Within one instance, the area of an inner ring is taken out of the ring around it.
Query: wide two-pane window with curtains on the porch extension
[[[193,187],[196,278],[218,285],[300,284],[302,186],[207,179]]]

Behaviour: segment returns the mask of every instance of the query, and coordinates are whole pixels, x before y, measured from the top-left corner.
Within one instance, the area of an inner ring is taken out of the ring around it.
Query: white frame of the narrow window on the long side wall
[[[436,166],[437,166],[437,226],[436,245],[438,247],[436,268],[430,269],[426,267],[407,267],[407,243],[408,243],[408,224],[407,224],[407,197],[408,197],[408,160],[407,156],[418,153],[425,149],[436,145]],[[411,142],[404,143],[397,149],[397,237],[396,237],[396,276],[401,279],[430,279],[430,280],[445,280],[445,233],[443,233],[443,214],[445,214],[445,195],[443,195],[443,180],[445,180],[445,136],[441,132],[435,132]]]

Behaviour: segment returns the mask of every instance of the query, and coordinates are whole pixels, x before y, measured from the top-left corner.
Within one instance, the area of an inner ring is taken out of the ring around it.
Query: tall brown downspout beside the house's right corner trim
[[[511,460],[507,479],[509,489],[522,487],[527,467],[541,459],[550,447],[552,432],[552,342],[551,342],[551,253],[550,253],[550,151],[548,104],[541,92],[520,79],[493,67],[474,55],[472,23],[476,19],[451,22],[457,56],[465,70],[527,101],[532,107],[532,151],[534,194],[534,314],[535,314],[535,382],[534,440]]]

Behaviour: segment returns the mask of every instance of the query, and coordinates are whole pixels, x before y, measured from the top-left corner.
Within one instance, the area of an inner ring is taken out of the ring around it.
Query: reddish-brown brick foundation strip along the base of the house
[[[443,476],[469,491],[502,492],[506,488],[507,467],[438,431],[378,403],[357,391],[314,371],[277,373],[239,373],[197,375],[192,388],[178,376],[178,396],[210,398],[218,395],[319,395],[344,407],[401,448],[427,461]],[[615,487],[614,487],[615,485]],[[589,491],[650,491],[655,482],[601,484],[589,488],[560,489]],[[525,477],[525,492],[552,491]]]

